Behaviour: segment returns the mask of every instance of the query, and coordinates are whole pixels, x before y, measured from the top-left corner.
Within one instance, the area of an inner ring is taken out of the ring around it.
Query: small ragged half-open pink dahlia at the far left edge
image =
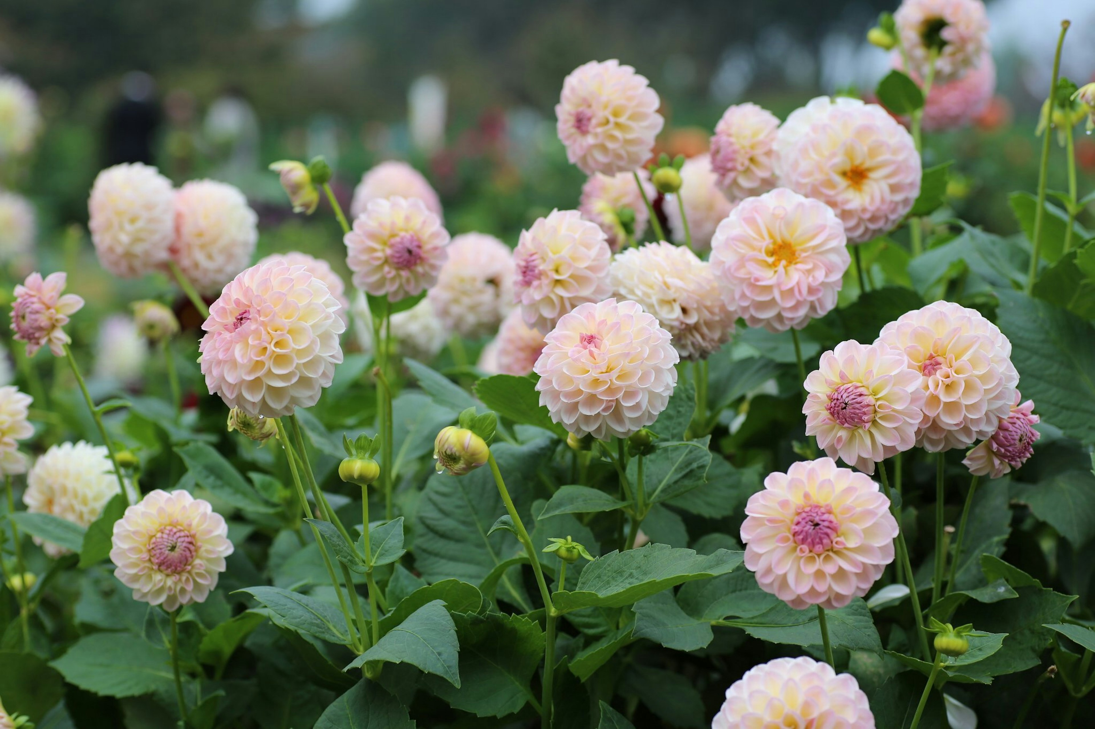
[[[65,356],[65,345],[72,342],[65,333],[69,316],[83,308],[83,299],[74,293],[65,293],[68,276],[57,271],[42,278],[35,271],[15,287],[15,302],[11,306],[11,331],[16,342],[26,343],[26,356],[49,345],[56,357]]]

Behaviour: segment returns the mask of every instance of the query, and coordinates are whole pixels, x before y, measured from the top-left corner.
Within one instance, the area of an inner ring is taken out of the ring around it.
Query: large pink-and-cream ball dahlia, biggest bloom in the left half
[[[303,265],[247,268],[209,306],[198,350],[210,394],[251,416],[311,407],[342,362],[338,301]]]

